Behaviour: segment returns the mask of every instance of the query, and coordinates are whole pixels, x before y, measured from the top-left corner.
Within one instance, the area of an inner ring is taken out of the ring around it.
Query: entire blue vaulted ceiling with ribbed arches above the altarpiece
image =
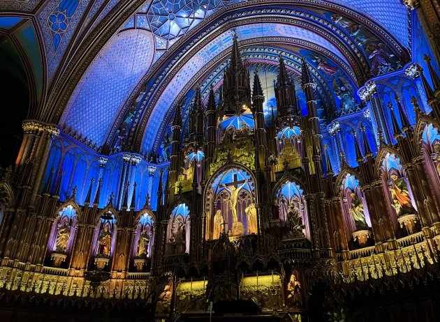
[[[337,98],[319,61],[354,89],[381,72],[374,49],[393,56],[394,68],[409,61],[409,11],[400,0],[29,0],[0,1],[0,10],[36,30],[36,117],[101,152],[133,107],[127,140],[134,151],[154,151],[177,101],[196,84],[221,83],[233,33],[249,63],[267,66],[283,54],[298,74],[306,56],[325,105]]]

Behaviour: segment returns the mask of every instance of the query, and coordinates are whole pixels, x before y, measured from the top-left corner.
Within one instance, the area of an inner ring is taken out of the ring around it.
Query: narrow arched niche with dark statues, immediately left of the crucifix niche
[[[177,205],[168,224],[168,254],[189,254],[191,222],[186,204]]]

